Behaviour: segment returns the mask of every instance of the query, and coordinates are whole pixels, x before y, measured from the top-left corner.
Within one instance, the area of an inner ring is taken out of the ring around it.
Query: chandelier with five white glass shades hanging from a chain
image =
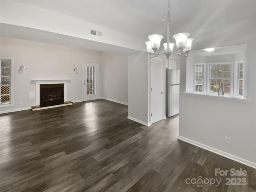
[[[169,56],[172,53],[175,53],[177,55],[180,56],[185,56],[188,57],[188,52],[191,50],[191,44],[192,41],[194,39],[188,39],[188,36],[190,36],[190,33],[178,33],[175,34],[173,36],[173,38],[175,38],[176,44],[174,43],[170,43],[170,28],[171,28],[171,24],[170,24],[170,0],[168,0],[168,13],[165,14],[164,16],[167,16],[167,21],[168,21],[168,25],[167,25],[167,43],[164,43],[164,52],[162,53],[156,53],[156,51],[159,49],[160,47],[160,43],[161,40],[163,38],[162,35],[150,35],[148,36],[149,41],[147,41],[145,44],[147,45],[147,51],[150,54],[150,58],[156,57],[160,54],[165,54],[167,58],[169,58]],[[166,19],[164,19],[163,16],[163,21],[165,21]],[[177,46],[177,48],[180,50],[180,52],[174,52],[173,48],[174,46]]]

